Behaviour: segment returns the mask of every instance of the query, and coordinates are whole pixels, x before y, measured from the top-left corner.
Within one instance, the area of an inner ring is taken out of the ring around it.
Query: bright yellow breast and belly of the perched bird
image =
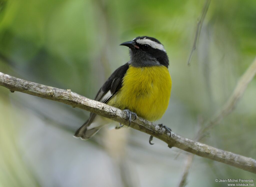
[[[160,119],[166,111],[172,80],[165,66],[133,67],[123,78],[123,86],[108,102],[121,110],[129,109],[149,121]]]

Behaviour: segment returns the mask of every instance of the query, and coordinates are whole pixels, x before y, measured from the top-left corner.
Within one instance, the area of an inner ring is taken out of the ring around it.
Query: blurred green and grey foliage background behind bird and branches
[[[159,39],[173,80],[157,123],[193,138],[231,95],[256,55],[256,1],[212,1],[187,65],[205,1],[0,0],[0,72],[93,99],[129,60],[119,46],[137,36]],[[256,158],[256,79],[236,109],[202,142]],[[89,112],[0,87],[0,186],[177,186],[186,152],[139,131],[102,129],[72,137]],[[215,179],[254,179],[195,157],[187,186],[227,186]]]

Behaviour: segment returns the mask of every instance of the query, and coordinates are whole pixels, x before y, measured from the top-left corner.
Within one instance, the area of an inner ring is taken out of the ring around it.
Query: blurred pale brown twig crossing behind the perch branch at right
[[[242,75],[242,77],[239,79],[232,95],[229,97],[227,102],[223,105],[223,107],[215,114],[215,116],[209,120],[197,133],[196,137],[194,138],[195,141],[200,141],[202,138],[205,137],[206,132],[214,127],[215,125],[219,124],[219,122],[226,117],[228,114],[230,114],[236,107],[238,101],[242,98],[244,91],[246,90],[248,84],[253,79],[253,77],[256,74],[256,58],[248,67],[246,72]],[[185,186],[185,181],[188,176],[188,171],[192,165],[194,155],[189,154],[187,156],[187,161],[185,165],[184,172],[182,174],[181,180],[179,182],[179,187]]]

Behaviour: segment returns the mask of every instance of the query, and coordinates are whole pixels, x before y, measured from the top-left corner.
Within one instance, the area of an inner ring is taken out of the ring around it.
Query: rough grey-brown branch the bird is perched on
[[[95,114],[102,115],[124,125],[129,124],[129,122],[126,120],[126,112],[111,107],[107,104],[88,99],[84,96],[72,92],[71,90],[63,90],[33,83],[6,75],[1,72],[0,86],[8,88],[11,92],[20,91],[33,96],[38,96],[53,101],[59,101],[72,107],[77,107],[93,112]],[[228,165],[256,173],[256,160],[252,158],[247,158],[199,142],[195,142],[175,133],[172,133],[172,137],[170,137],[170,134],[167,134],[164,129],[161,130],[158,125],[143,118],[137,117],[136,120],[132,121],[130,127],[164,141],[170,148],[177,147],[204,158],[226,163]]]

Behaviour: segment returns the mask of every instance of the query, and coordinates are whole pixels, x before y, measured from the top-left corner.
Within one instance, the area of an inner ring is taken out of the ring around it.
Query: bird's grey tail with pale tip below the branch
[[[74,137],[75,138],[81,138],[82,140],[88,140],[90,139],[94,134],[96,134],[101,126],[99,127],[94,127],[94,128],[91,128],[91,129],[88,129],[89,125],[89,120],[87,122],[85,122],[77,131],[76,133],[74,134]]]

